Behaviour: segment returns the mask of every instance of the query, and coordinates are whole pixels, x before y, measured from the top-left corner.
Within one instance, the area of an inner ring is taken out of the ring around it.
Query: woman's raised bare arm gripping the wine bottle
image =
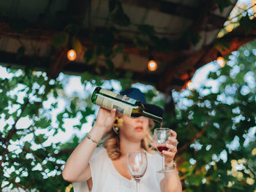
[[[92,139],[99,141],[102,139],[106,131],[110,130],[116,119],[116,109],[105,110],[99,109],[97,120],[91,128],[89,135]],[[85,137],[82,142],[75,148],[69,156],[67,163],[64,166],[62,177],[72,183],[82,182],[91,178],[91,169],[89,161],[92,153],[94,153],[97,144],[88,137]]]

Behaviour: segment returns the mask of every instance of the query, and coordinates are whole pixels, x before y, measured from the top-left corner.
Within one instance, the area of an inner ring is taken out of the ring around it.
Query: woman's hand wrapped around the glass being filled
[[[165,165],[173,164],[174,156],[177,153],[178,140],[176,139],[177,134],[175,131],[170,130],[170,137],[168,137],[166,147],[168,150],[163,150],[162,155],[165,155]]]

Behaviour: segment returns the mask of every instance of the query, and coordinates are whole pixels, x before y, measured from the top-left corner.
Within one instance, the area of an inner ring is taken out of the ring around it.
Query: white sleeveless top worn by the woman
[[[147,153],[147,152],[146,152]],[[159,182],[164,174],[157,173],[161,169],[162,159],[158,153],[147,153],[148,168],[140,180],[140,192],[157,192],[160,190]],[[91,192],[131,192],[136,191],[135,180],[128,180],[121,176],[113,166],[104,147],[97,147],[89,162],[93,187]],[[73,183],[75,192],[89,192],[87,181]]]

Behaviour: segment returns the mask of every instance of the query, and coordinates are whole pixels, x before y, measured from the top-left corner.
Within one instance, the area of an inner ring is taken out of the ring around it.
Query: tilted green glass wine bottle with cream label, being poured
[[[143,115],[160,123],[162,122],[162,117],[146,112],[144,105],[140,101],[104,88],[95,88],[91,96],[91,102],[107,110],[116,108],[116,112],[128,117],[138,118]]]

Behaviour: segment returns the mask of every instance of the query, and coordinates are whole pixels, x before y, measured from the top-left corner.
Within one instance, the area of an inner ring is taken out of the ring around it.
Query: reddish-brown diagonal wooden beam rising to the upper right
[[[256,23],[256,18],[253,21]],[[230,32],[230,34],[218,39],[218,41],[228,42],[230,44],[230,47],[226,47],[222,51],[222,55],[225,56],[230,55],[234,50],[238,50],[241,45],[251,42],[254,39],[256,39],[256,28],[253,28],[248,34],[243,29],[236,28],[234,31]],[[216,47],[216,43],[217,42],[213,42],[211,45],[204,46],[194,53],[184,53],[183,59],[178,58],[179,60],[173,61],[176,65],[170,64],[170,66],[167,67],[165,74],[162,74],[162,77],[159,78],[157,88],[162,91],[176,88],[176,82],[173,82],[173,80],[179,79],[182,74],[188,74],[188,79],[185,80],[184,83],[190,80],[192,74],[194,74],[197,69],[216,60],[219,51]]]

